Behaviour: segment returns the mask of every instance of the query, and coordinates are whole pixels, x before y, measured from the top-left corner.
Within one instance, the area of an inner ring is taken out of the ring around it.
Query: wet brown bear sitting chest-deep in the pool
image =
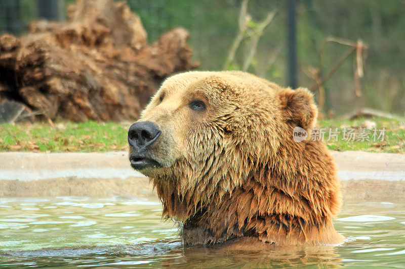
[[[148,176],[186,245],[338,244],[340,182],[310,139],[313,95],[238,72],[168,78],[128,133],[131,166]],[[293,139],[303,128],[308,138]]]

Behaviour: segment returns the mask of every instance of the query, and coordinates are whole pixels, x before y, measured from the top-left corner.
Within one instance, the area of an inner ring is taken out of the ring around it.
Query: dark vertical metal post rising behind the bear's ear
[[[297,88],[297,36],[296,36],[296,0],[287,1],[287,32],[288,32],[288,85]]]

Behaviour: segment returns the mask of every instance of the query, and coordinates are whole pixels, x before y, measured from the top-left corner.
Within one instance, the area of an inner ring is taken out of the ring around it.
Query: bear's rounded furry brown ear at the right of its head
[[[308,133],[314,128],[318,109],[313,94],[305,88],[283,89],[279,92],[281,112],[285,119],[305,129]]]

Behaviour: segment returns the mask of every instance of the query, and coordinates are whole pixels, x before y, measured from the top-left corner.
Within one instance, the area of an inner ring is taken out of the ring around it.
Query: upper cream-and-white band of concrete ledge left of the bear
[[[143,177],[134,171],[126,151],[33,153],[0,152],[0,180],[42,180],[54,178]]]

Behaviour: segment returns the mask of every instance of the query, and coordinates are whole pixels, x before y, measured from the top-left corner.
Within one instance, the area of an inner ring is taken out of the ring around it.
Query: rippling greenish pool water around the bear
[[[255,251],[182,247],[158,200],[0,198],[0,267],[405,268],[405,204],[345,204],[336,247]]]

